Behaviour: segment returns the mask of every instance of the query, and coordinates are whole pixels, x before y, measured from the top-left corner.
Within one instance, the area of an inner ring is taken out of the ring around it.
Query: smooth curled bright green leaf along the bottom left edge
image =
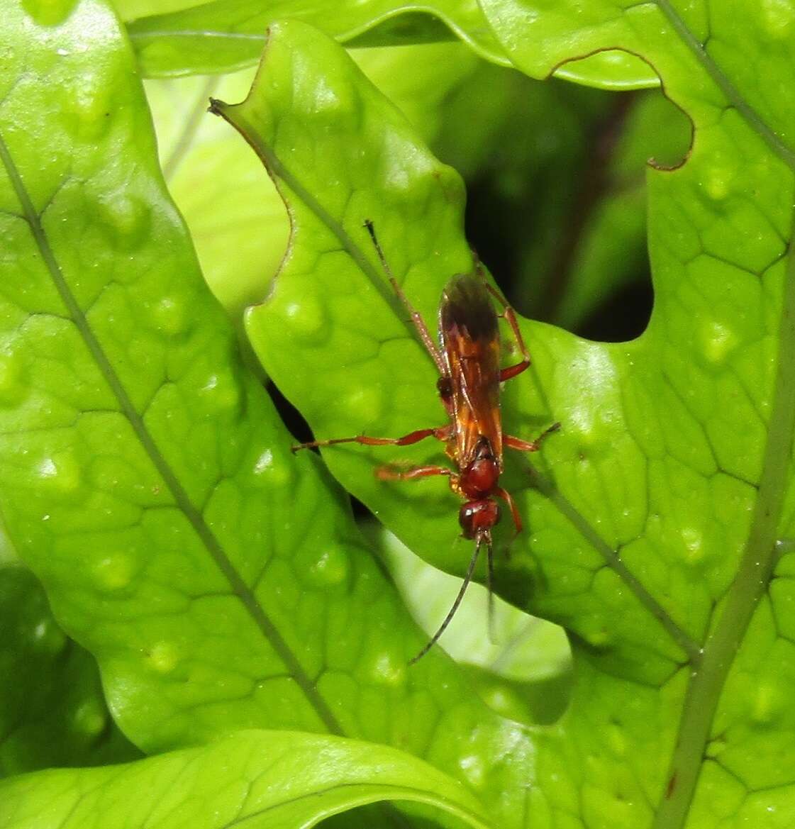
[[[244,731],[124,766],[0,782],[0,825],[308,829],[381,800],[423,803],[457,818],[456,826],[486,826],[471,793],[410,754],[284,731]]]

